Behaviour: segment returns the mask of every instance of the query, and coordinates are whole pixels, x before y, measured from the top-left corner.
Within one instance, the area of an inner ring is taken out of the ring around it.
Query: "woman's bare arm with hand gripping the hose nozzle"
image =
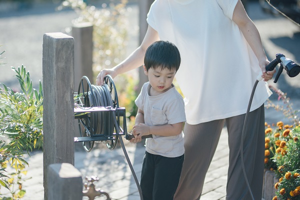
[[[271,79],[276,70],[274,69],[273,71],[268,71],[266,73],[265,65],[268,64],[269,61],[266,58],[263,50],[259,32],[253,21],[248,17],[240,0],[238,0],[235,5],[232,20],[237,24],[248,44],[252,48],[255,56],[257,57],[262,71],[261,77],[264,79],[264,81]]]

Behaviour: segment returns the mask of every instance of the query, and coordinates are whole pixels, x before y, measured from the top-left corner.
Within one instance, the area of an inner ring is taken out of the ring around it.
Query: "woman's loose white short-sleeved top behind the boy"
[[[246,112],[261,71],[258,60],[231,20],[237,0],[155,0],[147,22],[161,40],[174,43],[181,55],[176,80],[184,95],[189,124]],[[271,91],[259,81],[250,111]]]

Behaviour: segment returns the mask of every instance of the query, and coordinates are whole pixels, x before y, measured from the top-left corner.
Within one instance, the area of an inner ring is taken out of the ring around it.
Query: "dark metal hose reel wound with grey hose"
[[[106,144],[112,150],[118,137],[127,133],[125,108],[119,107],[110,75],[104,77],[104,84],[101,86],[91,84],[86,76],[81,77],[74,115],[78,119],[80,134],[80,137],[74,137],[74,141],[81,142],[87,152],[93,148],[95,141]]]

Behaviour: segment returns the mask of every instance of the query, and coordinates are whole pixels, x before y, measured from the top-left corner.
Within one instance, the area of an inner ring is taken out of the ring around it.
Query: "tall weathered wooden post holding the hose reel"
[[[61,32],[45,33],[43,76],[43,185],[47,200],[49,164],[74,164],[74,39]]]

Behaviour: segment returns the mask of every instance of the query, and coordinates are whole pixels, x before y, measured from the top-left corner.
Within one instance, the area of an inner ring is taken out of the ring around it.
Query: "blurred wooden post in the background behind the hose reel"
[[[85,75],[93,84],[92,73],[92,23],[76,23],[72,27],[74,37],[74,89],[78,90],[80,78]]]

